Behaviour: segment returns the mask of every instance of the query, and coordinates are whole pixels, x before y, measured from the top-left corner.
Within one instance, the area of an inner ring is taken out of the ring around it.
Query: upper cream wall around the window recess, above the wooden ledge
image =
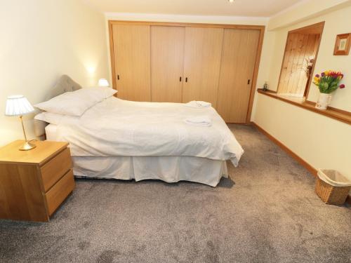
[[[343,90],[336,90],[336,93],[333,93],[331,106],[351,112],[351,54],[333,55],[336,35],[351,32],[350,14],[351,6],[272,32],[275,34],[275,41],[274,53],[272,55],[272,67],[268,77],[270,79],[270,88],[272,90],[277,90],[288,32],[292,29],[325,21],[314,74],[320,74],[320,72],[327,69],[340,70],[345,74],[342,83],[345,83],[346,88]],[[317,101],[318,95],[319,90],[312,84],[308,100],[315,102]]]

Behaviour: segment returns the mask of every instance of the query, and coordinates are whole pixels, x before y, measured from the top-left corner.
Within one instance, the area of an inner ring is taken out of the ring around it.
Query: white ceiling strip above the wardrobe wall
[[[304,0],[84,0],[105,13],[270,17]]]

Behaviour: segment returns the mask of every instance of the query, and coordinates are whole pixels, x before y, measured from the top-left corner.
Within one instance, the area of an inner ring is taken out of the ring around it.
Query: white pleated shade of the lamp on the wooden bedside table
[[[34,112],[34,108],[23,95],[9,96],[6,100],[6,116],[21,116]]]

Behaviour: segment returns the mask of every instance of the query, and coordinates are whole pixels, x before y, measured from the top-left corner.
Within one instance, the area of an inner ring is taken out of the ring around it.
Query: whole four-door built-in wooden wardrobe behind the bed
[[[263,26],[109,21],[113,87],[124,100],[211,102],[250,121]]]

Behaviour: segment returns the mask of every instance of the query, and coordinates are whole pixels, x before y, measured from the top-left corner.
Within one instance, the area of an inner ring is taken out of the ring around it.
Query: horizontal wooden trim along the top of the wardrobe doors
[[[203,23],[187,23],[187,22],[147,22],[147,21],[121,21],[109,20],[109,25],[158,25],[166,27],[218,27],[218,28],[234,28],[234,29],[265,29],[264,25],[223,25],[223,24],[203,24]]]

